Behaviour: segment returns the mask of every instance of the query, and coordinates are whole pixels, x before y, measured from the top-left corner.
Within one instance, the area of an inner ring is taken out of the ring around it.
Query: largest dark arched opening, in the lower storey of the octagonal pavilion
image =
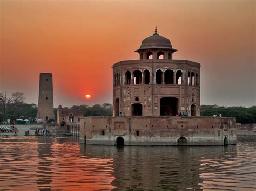
[[[160,100],[161,116],[176,116],[178,112],[178,101],[176,97],[163,97]]]

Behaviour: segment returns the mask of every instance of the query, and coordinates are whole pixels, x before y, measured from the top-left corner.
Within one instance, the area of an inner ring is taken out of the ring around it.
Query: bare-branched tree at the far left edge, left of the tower
[[[5,93],[0,93],[0,115],[3,118],[3,121],[6,120],[6,116],[13,112],[19,103],[24,102],[24,94],[22,92],[15,92],[9,97],[5,91]]]

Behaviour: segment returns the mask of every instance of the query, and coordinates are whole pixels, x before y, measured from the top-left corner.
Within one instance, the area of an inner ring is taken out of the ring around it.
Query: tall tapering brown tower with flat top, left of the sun
[[[54,118],[52,74],[41,73],[39,79],[37,119],[41,119],[46,123],[47,120]]]

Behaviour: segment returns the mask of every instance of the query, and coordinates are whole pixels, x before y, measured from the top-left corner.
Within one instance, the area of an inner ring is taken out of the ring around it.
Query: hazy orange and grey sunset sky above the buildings
[[[39,73],[53,74],[55,107],[112,103],[113,63],[139,59],[157,25],[173,59],[201,63],[201,104],[256,105],[255,1],[0,2],[0,91],[26,103]]]

